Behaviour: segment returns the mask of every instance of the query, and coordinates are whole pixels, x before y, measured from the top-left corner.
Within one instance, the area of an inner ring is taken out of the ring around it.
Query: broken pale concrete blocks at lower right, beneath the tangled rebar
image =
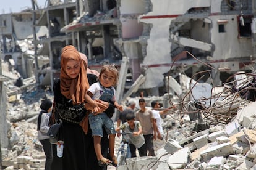
[[[256,169],[255,107],[256,102],[250,103],[230,123],[194,134],[196,121],[184,118],[184,124],[169,129],[156,157],[128,158],[117,169]]]

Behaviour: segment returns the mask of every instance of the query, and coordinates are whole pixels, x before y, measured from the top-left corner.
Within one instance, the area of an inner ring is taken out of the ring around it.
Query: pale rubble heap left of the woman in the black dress
[[[18,78],[19,75],[16,75]],[[37,139],[37,118],[43,99],[53,99],[48,87],[35,86],[35,78],[17,79],[4,82],[7,88],[7,124],[9,146],[2,152],[4,169],[44,169],[45,153]]]

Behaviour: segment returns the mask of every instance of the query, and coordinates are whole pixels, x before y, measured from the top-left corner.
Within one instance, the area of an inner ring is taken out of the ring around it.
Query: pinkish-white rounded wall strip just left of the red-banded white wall
[[[120,0],[119,4],[122,46],[126,57],[129,58],[129,70],[135,81],[141,73],[139,63],[143,60],[143,47],[137,40],[142,36],[143,23],[138,22],[138,17],[147,12],[147,3],[143,0]]]

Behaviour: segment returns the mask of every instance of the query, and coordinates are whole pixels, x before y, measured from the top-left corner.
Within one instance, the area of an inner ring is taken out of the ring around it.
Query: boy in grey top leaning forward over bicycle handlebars
[[[119,132],[122,129],[127,133],[126,137],[129,139],[131,157],[136,157],[136,148],[139,151],[140,156],[147,156],[145,152],[145,139],[142,134],[142,126],[140,121],[135,121],[135,116],[132,113],[126,115],[126,122],[116,128]]]

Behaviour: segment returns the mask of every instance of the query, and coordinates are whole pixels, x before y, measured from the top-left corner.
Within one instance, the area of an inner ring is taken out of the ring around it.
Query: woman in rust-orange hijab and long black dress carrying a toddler
[[[87,110],[92,109],[94,103],[85,101],[85,92],[89,87],[86,68],[74,46],[62,49],[61,75],[53,86],[55,113],[62,120],[62,169],[103,169],[97,164],[92,132],[88,128]],[[100,111],[108,108],[107,102],[96,102]]]

